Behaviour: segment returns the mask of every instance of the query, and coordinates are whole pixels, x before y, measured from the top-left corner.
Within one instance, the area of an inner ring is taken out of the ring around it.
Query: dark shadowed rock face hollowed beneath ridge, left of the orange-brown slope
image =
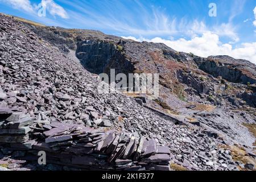
[[[133,65],[122,55],[120,49],[110,42],[84,40],[77,43],[76,56],[85,69],[97,75],[110,75],[110,69],[115,69],[115,74],[133,73]]]

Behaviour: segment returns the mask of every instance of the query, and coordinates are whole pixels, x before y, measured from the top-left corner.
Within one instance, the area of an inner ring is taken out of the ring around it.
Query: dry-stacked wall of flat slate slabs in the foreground
[[[98,170],[169,170],[170,150],[154,139],[109,127],[93,129],[71,123],[36,121],[22,112],[0,110],[0,149],[13,158]]]

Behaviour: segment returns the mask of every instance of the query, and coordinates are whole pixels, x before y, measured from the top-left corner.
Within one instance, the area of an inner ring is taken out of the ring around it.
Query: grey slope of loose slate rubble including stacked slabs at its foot
[[[0,40],[0,170],[239,169],[218,134],[98,93],[79,60],[2,14]]]

